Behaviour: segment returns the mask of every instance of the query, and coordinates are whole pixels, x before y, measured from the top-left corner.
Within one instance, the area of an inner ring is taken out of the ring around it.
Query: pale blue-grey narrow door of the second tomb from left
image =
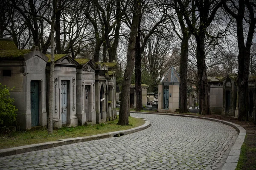
[[[67,81],[61,81],[61,122],[67,124]]]

